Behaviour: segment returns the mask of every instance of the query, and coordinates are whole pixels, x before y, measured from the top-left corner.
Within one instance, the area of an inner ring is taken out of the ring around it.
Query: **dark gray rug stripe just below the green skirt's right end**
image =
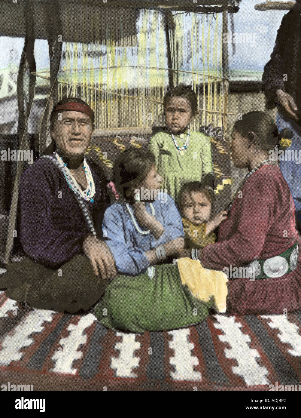
[[[203,321],[200,324],[195,325],[195,329],[199,335],[199,343],[202,349],[203,360],[208,372],[208,380],[210,382],[223,385],[229,384],[229,379],[223,372],[223,369],[218,361],[218,356],[215,353],[215,347],[207,321]]]

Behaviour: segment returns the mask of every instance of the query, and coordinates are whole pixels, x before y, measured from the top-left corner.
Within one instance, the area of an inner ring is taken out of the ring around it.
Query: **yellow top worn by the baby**
[[[203,248],[207,244],[214,244],[216,235],[213,232],[206,237],[206,224],[194,225],[187,219],[182,219],[183,229],[186,238],[186,247]]]

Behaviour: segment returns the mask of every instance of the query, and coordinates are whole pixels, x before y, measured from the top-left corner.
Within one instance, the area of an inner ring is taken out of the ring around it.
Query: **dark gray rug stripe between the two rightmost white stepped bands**
[[[283,357],[280,349],[268,335],[268,331],[260,319],[255,315],[245,315],[243,319],[257,336],[263,351],[274,367],[279,378],[278,383],[282,385],[296,385],[300,383],[293,366]]]

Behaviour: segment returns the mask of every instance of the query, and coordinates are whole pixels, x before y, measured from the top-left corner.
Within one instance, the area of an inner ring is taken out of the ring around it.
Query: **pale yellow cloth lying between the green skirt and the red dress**
[[[182,285],[188,286],[192,296],[205,303],[213,298],[216,311],[226,311],[228,278],[225,273],[203,268],[199,260],[186,257],[179,258],[177,265]]]

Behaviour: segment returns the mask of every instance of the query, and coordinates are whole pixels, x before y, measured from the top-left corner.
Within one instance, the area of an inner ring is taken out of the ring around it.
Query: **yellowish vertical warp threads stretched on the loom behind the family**
[[[99,25],[99,16],[93,15],[90,25],[68,28],[69,39],[91,43],[63,44],[59,98],[86,100],[94,110],[96,129],[135,127],[143,135],[145,129],[164,124],[162,102],[169,72],[164,17],[158,10],[141,10],[134,35],[129,30],[134,26],[131,10],[110,13],[109,25],[106,20]],[[218,15],[172,14],[174,25],[169,33],[174,83],[190,84],[198,107],[203,109],[191,128],[199,130],[200,125],[209,123],[221,126],[224,97],[218,77],[222,74],[223,38]]]

